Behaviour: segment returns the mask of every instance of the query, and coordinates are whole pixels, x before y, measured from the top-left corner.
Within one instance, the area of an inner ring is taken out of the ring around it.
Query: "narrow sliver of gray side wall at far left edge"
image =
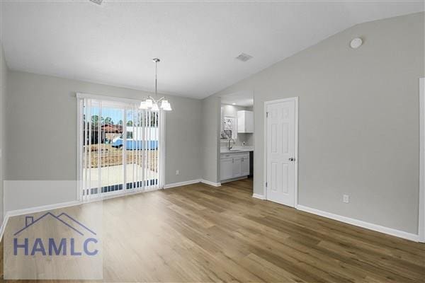
[[[4,97],[6,96],[6,81],[8,67],[4,59],[3,45],[0,42],[0,225],[4,219],[3,180],[4,180]]]

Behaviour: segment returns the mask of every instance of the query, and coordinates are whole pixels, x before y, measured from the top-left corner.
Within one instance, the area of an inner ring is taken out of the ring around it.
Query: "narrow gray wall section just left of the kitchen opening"
[[[202,100],[202,125],[201,125],[201,162],[203,180],[212,183],[219,182],[220,158],[220,98],[210,96]]]

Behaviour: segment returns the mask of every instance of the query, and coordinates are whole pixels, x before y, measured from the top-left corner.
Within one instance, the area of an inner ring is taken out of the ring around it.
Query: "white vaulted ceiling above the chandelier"
[[[421,1],[2,1],[8,67],[204,98],[356,23]],[[239,62],[240,53],[254,58]]]

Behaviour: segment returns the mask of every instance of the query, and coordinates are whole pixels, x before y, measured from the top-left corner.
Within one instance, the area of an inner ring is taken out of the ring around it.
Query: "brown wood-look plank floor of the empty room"
[[[425,282],[424,244],[251,195],[246,179],[103,201],[103,282]]]

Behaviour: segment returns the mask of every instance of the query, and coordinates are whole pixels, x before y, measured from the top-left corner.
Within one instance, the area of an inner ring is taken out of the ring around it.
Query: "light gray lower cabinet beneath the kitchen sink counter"
[[[249,152],[221,154],[220,180],[249,175]]]

